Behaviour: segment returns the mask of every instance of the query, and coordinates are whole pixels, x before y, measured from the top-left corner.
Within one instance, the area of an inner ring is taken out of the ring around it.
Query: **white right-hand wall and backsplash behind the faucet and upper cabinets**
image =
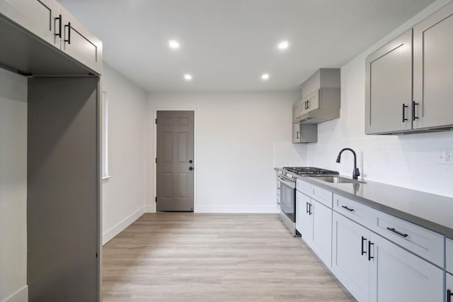
[[[436,164],[439,148],[453,147],[453,131],[401,136],[364,134],[365,57],[447,2],[436,1],[342,67],[341,116],[319,124],[318,143],[304,146],[306,164],[352,175],[351,154],[344,152],[341,164],[335,162],[343,147],[352,147],[358,153],[365,179],[453,197],[453,166]]]

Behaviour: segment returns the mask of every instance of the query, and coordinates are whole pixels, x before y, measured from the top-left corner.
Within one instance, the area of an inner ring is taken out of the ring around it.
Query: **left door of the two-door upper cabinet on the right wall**
[[[365,133],[412,128],[412,30],[367,57]]]

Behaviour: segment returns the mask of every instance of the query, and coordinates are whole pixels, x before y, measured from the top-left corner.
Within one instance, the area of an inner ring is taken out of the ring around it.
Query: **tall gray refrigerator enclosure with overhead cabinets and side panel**
[[[101,301],[102,43],[54,0],[0,0],[0,36],[28,77],[29,301]]]

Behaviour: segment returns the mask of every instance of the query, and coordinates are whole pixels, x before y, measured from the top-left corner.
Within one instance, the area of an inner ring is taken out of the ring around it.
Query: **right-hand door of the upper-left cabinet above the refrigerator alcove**
[[[102,74],[102,42],[62,7],[62,50],[94,72]]]

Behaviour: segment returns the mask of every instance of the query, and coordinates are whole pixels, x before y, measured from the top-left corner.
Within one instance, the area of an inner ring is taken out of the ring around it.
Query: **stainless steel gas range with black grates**
[[[338,172],[316,167],[284,167],[278,171],[280,178],[280,219],[293,236],[296,230],[296,176],[338,175]]]

